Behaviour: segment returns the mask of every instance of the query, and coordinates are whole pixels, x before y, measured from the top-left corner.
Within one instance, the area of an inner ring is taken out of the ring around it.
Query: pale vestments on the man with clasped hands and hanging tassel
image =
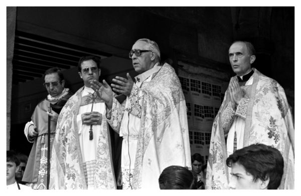
[[[106,112],[105,103],[87,87],[79,89],[62,109],[52,149],[51,189],[116,188],[105,118],[101,125],[82,124],[81,114],[91,109],[101,115]]]

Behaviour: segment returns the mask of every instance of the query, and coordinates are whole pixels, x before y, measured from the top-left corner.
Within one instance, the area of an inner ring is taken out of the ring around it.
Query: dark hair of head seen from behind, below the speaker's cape
[[[186,167],[166,167],[159,177],[160,189],[197,189],[196,175]]]

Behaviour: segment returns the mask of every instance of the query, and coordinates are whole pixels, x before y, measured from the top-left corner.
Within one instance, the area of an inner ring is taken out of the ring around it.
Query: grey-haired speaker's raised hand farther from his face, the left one
[[[107,108],[110,110],[113,105],[113,91],[105,80],[102,82],[103,83],[93,80],[91,82],[91,88],[96,92],[97,96],[105,102]]]

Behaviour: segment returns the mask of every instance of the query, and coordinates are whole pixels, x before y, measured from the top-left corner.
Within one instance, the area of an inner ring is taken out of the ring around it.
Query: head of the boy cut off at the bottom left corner
[[[20,160],[16,152],[7,151],[7,180],[15,179],[16,172],[19,170]]]

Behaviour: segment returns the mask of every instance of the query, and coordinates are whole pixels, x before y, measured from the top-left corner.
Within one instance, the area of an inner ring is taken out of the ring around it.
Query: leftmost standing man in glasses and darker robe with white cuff
[[[64,75],[59,68],[45,71],[43,84],[49,93],[35,108],[32,121],[25,125],[24,133],[29,142],[33,142],[27,166],[22,181],[28,182],[34,189],[47,188],[48,170],[48,120],[50,116],[50,152],[55,135],[56,124],[60,109],[64,106],[72,93],[64,88]],[[53,110],[49,113],[49,104]]]

